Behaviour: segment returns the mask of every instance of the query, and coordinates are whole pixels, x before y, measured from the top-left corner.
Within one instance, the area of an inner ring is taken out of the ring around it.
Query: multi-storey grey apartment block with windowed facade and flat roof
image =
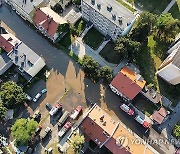
[[[82,0],[82,17],[114,41],[126,35],[133,26],[136,16],[115,0]]]

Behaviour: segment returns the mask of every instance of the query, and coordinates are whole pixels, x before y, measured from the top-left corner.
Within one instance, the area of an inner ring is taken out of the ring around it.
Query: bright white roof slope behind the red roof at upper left
[[[46,15],[49,15],[53,18],[53,20],[58,24],[64,24],[67,23],[66,20],[64,20],[62,17],[60,17],[56,12],[54,12],[49,7],[41,7],[40,10],[44,12]]]

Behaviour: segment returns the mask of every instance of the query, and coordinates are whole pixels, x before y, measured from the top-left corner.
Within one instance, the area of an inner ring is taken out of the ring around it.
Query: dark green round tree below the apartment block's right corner
[[[129,37],[120,37],[116,41],[114,50],[119,53],[122,58],[135,61],[140,52],[141,44],[131,40]]]

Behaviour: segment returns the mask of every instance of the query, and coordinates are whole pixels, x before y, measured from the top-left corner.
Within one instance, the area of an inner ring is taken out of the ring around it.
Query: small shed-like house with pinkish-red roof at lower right
[[[164,107],[161,107],[158,111],[155,111],[152,114],[152,119],[155,122],[155,124],[162,124],[168,115],[168,111]]]

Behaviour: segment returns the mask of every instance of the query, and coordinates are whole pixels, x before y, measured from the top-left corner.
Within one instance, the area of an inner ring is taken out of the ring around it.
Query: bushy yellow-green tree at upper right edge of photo
[[[154,39],[156,41],[171,43],[180,32],[180,20],[174,19],[170,13],[161,14],[156,21]]]

